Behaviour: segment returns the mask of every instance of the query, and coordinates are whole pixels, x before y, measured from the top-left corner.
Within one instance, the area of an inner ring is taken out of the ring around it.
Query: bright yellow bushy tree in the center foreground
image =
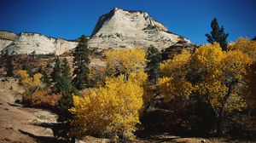
[[[143,79],[141,73],[109,77],[104,87],[91,89],[83,97],[73,96],[73,134],[99,134],[117,139],[133,140],[133,132],[139,123],[139,112],[143,107]]]

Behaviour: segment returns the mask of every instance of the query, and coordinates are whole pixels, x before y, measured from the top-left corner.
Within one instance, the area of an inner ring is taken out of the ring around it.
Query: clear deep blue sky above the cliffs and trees
[[[214,17],[229,41],[256,36],[255,0],[0,0],[0,29],[75,39],[90,35],[99,16],[114,7],[146,11],[192,43],[207,43]]]

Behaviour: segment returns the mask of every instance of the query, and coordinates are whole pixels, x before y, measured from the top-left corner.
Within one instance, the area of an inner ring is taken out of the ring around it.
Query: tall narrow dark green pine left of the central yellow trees
[[[77,89],[84,89],[89,87],[89,49],[87,47],[87,38],[82,35],[79,39],[79,45],[73,52],[73,85]]]

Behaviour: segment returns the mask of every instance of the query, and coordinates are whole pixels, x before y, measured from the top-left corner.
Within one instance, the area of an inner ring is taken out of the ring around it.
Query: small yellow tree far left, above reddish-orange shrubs
[[[42,82],[40,80],[42,74],[36,73],[32,77],[30,77],[25,70],[20,70],[18,71],[18,76],[20,77],[20,83],[25,89],[23,100],[32,102],[32,95],[42,85]]]

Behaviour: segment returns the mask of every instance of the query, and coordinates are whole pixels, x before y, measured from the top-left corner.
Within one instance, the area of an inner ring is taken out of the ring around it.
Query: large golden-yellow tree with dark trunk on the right
[[[183,51],[160,64],[160,89],[166,100],[200,96],[215,114],[218,134],[224,117],[245,106],[240,85],[251,59],[239,50],[224,52],[218,43],[203,45],[195,54]]]

